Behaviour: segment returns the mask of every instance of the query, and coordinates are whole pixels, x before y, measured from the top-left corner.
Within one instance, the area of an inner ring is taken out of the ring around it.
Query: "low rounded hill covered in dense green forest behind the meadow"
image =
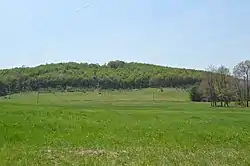
[[[67,87],[183,87],[199,81],[201,72],[123,61],[110,61],[105,65],[69,62],[0,70],[0,87],[2,92],[12,93]]]

